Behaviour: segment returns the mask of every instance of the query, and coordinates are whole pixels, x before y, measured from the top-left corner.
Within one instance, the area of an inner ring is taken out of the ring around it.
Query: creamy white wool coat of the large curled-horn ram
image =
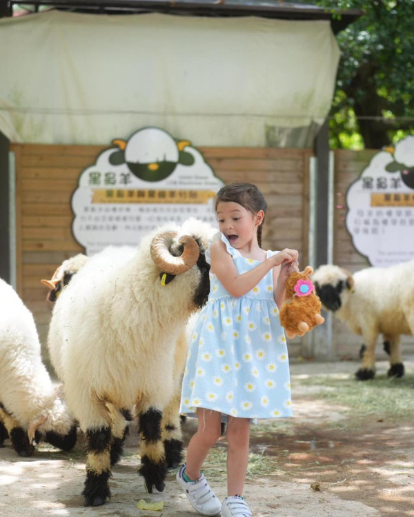
[[[50,357],[83,430],[110,423],[105,403],[162,410],[177,390],[181,367],[174,364],[185,361],[186,349],[176,343],[196,310],[201,272],[192,267],[162,286],[150,241],[162,230],[197,230],[207,247],[210,225],[192,219],[183,226],[166,225],[136,249],[108,247],[90,257],[55,304]]]

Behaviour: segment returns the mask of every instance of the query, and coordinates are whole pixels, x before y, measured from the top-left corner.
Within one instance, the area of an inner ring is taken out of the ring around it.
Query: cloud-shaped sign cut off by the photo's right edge
[[[346,192],[346,227],[373,266],[414,259],[414,136],[384,148]]]

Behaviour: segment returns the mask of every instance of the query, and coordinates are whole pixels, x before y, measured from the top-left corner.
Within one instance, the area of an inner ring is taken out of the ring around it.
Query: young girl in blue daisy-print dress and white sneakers
[[[298,253],[262,250],[266,201],[250,183],[222,187],[215,198],[220,232],[206,252],[210,294],[193,330],[182,413],[197,413],[187,463],[177,481],[201,515],[250,517],[242,497],[250,421],[292,415],[288,352],[277,305],[298,271]],[[221,505],[201,465],[227,421],[227,490]]]

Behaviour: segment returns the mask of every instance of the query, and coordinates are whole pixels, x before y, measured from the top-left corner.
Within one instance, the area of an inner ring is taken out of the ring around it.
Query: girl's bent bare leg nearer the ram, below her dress
[[[190,480],[201,476],[201,465],[210,450],[220,437],[220,414],[210,409],[197,408],[198,429],[187,447],[186,475]]]

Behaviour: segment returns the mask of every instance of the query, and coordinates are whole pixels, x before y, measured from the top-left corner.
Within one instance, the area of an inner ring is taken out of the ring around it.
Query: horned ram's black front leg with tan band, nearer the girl
[[[141,468],[139,474],[144,476],[148,492],[152,487],[159,491],[165,488],[167,466],[164,444],[161,441],[162,413],[155,408],[139,414],[138,429],[141,436]]]

